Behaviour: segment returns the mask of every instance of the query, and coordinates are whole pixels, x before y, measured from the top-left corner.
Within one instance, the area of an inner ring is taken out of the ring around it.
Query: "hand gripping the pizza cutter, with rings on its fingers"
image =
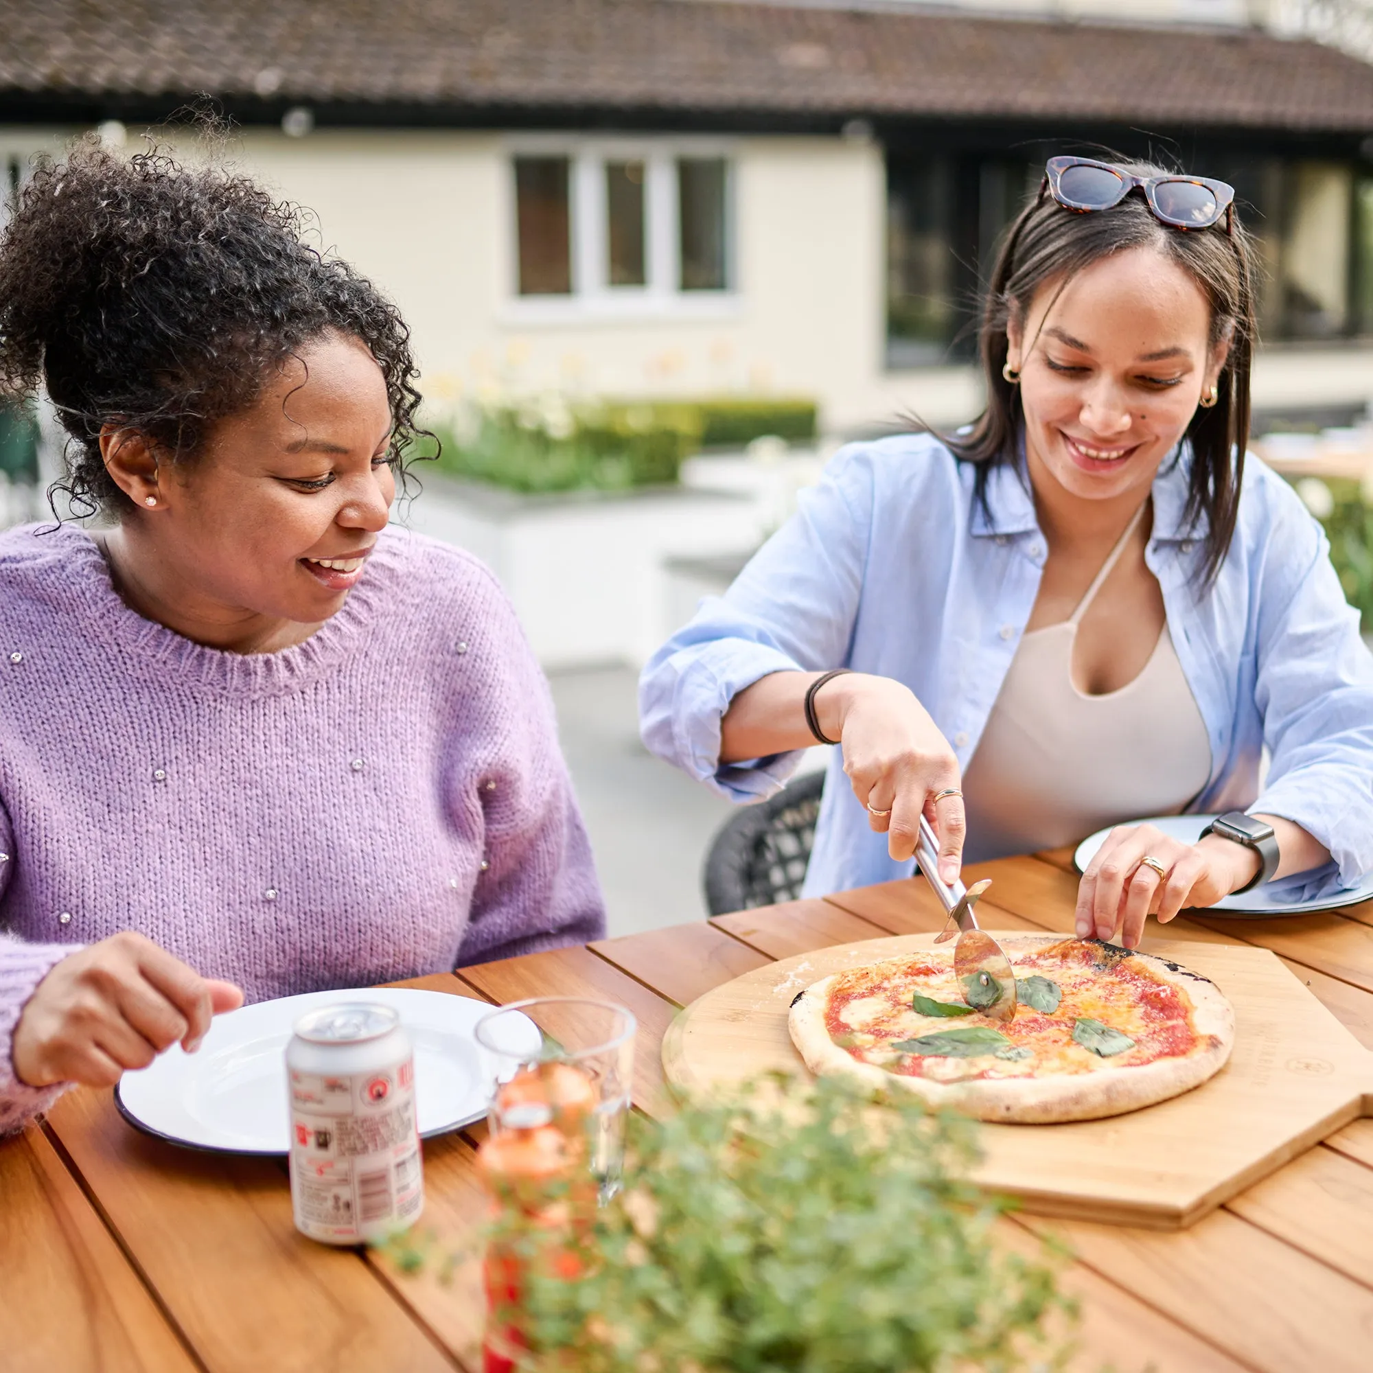
[[[886,832],[891,857],[905,862],[914,854],[924,811],[939,836],[939,876],[957,879],[967,832],[962,796],[934,798],[957,791],[958,759],[914,692],[891,677],[844,673],[816,692],[814,704],[821,730],[843,746],[854,795],[868,807],[869,825]]]

